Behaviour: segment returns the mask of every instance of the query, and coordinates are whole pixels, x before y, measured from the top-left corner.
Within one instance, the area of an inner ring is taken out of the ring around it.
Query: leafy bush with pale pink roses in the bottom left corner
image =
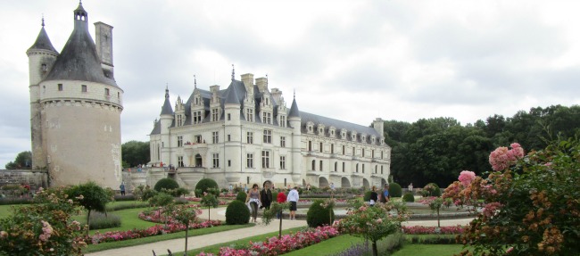
[[[82,255],[83,229],[70,219],[79,213],[63,188],[39,192],[34,204],[0,219],[0,255]]]

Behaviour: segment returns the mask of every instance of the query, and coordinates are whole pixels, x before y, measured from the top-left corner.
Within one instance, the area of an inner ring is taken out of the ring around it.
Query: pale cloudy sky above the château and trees
[[[30,150],[26,50],[41,28],[60,52],[76,0],[4,1],[0,8],[0,168]],[[227,87],[231,65],[269,77],[287,105],[369,125],[578,103],[580,10],[567,1],[85,0],[88,21],[113,29],[125,91],[122,141],[147,141],[164,89]],[[94,27],[90,26],[94,36]]]

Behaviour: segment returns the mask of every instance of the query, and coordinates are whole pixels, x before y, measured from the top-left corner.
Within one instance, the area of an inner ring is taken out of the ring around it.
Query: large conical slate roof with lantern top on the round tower
[[[75,12],[85,10],[79,4]],[[95,41],[88,33],[87,20],[75,21],[75,28],[45,81],[59,79],[90,81],[118,87],[112,73],[107,72],[106,76],[104,74],[101,60],[96,54]]]

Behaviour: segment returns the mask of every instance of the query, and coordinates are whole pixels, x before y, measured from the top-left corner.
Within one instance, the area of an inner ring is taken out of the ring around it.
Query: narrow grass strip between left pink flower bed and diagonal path
[[[237,228],[253,227],[254,225],[255,224],[223,225],[223,226],[218,226],[218,227],[192,229],[192,230],[189,230],[187,232],[187,237],[195,236],[195,235],[207,235],[207,234],[211,234],[211,233],[223,232],[223,231],[228,231],[228,230],[237,229]],[[129,240],[119,241],[119,242],[109,242],[109,243],[103,243],[103,244],[90,244],[87,246],[87,248],[85,248],[83,250],[83,252],[84,253],[99,252],[99,251],[104,251],[104,250],[128,247],[128,246],[139,245],[139,244],[150,244],[150,243],[166,241],[166,240],[170,240],[170,239],[185,238],[185,237],[186,237],[186,232],[181,231],[181,232],[167,234],[167,235],[153,235],[153,236],[149,236],[149,237],[138,238],[138,239],[129,239]],[[185,241],[184,241],[184,243],[185,243]],[[219,250],[219,248],[218,248],[218,250]]]

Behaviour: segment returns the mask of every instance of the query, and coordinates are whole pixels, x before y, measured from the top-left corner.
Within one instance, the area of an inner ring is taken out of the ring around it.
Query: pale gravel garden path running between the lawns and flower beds
[[[211,219],[220,219],[226,220],[224,215],[220,215],[218,212],[223,211],[223,208],[215,208],[211,209]],[[207,217],[207,210],[203,210],[202,215],[200,218],[204,219]],[[455,226],[455,225],[468,225],[471,219],[442,219],[441,226]],[[258,223],[261,223],[261,219],[258,218]],[[437,220],[413,220],[405,222],[403,225],[405,226],[436,226]],[[289,220],[284,219],[282,221],[282,228],[288,229],[293,227],[306,227],[306,220],[296,219],[296,220]],[[228,241],[235,241],[238,239],[242,239],[248,236],[253,235],[262,235],[270,232],[278,231],[278,222],[273,222],[270,225],[266,226],[263,224],[256,225],[255,227],[244,227],[238,228],[234,230],[228,230],[219,233],[213,233],[208,235],[197,235],[191,236],[187,239],[187,249],[193,250],[197,248],[202,248],[205,246],[213,245],[213,244],[221,244]],[[158,255],[167,254],[167,249],[170,249],[171,252],[183,252],[185,251],[185,242],[183,238],[167,240],[162,242],[156,242],[151,244],[141,244],[136,246],[106,250],[102,252],[93,252],[87,253],[86,256],[134,256],[134,255],[153,255],[152,250],[155,251]]]

